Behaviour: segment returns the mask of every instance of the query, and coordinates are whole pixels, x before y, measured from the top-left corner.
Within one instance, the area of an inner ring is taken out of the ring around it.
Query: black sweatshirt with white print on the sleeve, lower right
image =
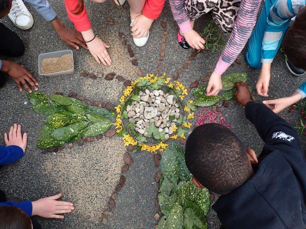
[[[306,159],[297,131],[263,104],[245,116],[265,142],[255,174],[212,208],[226,229],[305,229]]]

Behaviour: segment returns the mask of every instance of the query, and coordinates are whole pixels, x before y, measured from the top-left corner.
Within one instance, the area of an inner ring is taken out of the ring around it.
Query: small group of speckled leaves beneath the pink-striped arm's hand
[[[235,82],[246,82],[248,75],[246,73],[231,73],[222,77],[222,91],[225,91],[221,96],[207,96],[206,89],[207,86],[198,87],[193,92],[192,95],[196,96],[193,100],[193,105],[199,107],[209,107],[214,105],[219,100],[230,100],[235,96],[235,92],[231,89],[235,87]]]

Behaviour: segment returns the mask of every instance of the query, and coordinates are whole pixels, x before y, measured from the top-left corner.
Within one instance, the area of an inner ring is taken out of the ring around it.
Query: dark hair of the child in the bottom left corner
[[[0,228],[3,229],[32,229],[30,216],[14,206],[0,207]]]

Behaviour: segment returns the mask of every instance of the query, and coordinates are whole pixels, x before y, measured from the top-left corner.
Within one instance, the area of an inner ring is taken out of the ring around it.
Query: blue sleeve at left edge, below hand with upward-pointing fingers
[[[6,165],[16,162],[24,155],[23,150],[19,146],[0,145],[0,165]]]

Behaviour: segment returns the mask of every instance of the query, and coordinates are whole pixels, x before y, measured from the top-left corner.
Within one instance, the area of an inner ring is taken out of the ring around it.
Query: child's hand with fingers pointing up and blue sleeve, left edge
[[[0,145],[0,165],[15,162],[23,157],[27,147],[27,133],[21,135],[21,125],[11,126],[9,134],[4,133],[6,146]]]

